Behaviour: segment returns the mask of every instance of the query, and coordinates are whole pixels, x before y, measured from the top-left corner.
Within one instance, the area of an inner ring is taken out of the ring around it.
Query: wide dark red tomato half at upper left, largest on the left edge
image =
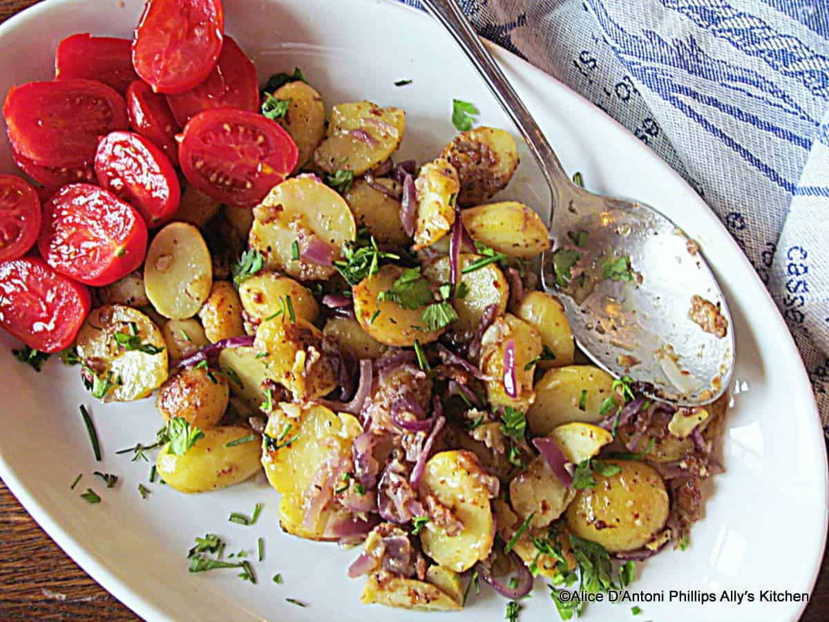
[[[44,167],[92,163],[98,137],[128,127],[124,98],[95,80],[16,86],[6,95],[2,114],[14,150]]]

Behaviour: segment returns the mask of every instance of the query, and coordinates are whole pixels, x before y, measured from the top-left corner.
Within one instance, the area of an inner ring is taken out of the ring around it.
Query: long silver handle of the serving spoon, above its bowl
[[[533,157],[536,158],[541,173],[544,174],[547,180],[547,185],[550,186],[550,192],[553,193],[553,204],[555,205],[559,188],[562,187],[562,184],[564,184],[564,187],[570,186],[570,177],[562,168],[559,158],[556,157],[553,148],[550,147],[550,143],[544,138],[544,134],[536,124],[536,120],[532,118],[530,111],[526,109],[521,98],[510,85],[507,76],[504,75],[501,67],[497,66],[492,54],[478,39],[478,35],[475,34],[466,16],[463,15],[458,2],[456,0],[420,0],[420,2],[458,42],[458,45],[461,46],[468,59],[472,61],[484,82],[487,83],[492,95],[501,104],[504,112],[516,124]]]

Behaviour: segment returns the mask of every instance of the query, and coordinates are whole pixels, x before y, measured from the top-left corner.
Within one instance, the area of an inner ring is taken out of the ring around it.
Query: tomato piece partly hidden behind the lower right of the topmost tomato
[[[236,42],[225,36],[221,56],[207,80],[182,95],[167,95],[173,116],[184,127],[202,110],[238,108],[259,112],[256,67]]]

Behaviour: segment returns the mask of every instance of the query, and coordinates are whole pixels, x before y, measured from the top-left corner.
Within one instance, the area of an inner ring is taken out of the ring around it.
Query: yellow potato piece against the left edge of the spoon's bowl
[[[536,328],[541,334],[541,343],[555,356],[552,360],[545,358],[539,361],[539,367],[549,369],[573,364],[573,332],[559,299],[545,292],[527,292],[516,309],[516,315]]]

